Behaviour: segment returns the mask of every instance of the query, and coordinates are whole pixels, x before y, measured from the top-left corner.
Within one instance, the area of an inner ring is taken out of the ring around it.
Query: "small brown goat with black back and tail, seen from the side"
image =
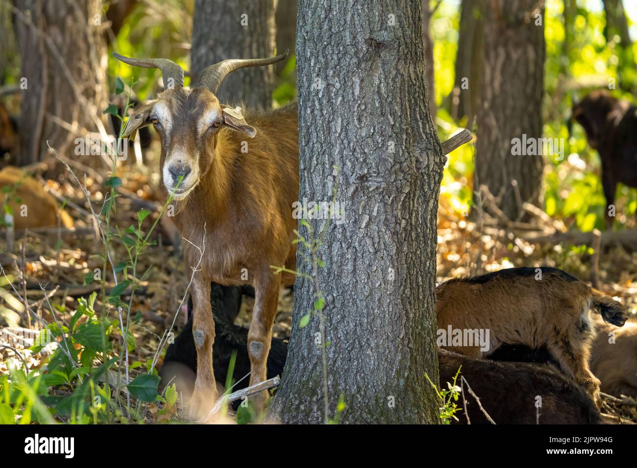
[[[436,288],[438,344],[474,358],[487,357],[503,344],[545,347],[564,374],[599,404],[599,380],[588,364],[595,336],[590,309],[613,325],[626,322],[619,302],[556,268],[510,268],[449,280]],[[481,348],[441,342],[448,328],[464,334],[475,330],[474,336],[484,331],[489,343]]]

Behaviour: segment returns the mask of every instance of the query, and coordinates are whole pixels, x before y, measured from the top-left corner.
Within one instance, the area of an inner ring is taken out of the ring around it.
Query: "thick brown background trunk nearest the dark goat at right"
[[[524,146],[523,155],[515,155],[513,139],[542,136],[544,10],[536,0],[483,0],[483,8],[474,187],[487,185],[499,208],[517,220],[524,202],[540,204],[541,150],[529,154],[533,148]]]

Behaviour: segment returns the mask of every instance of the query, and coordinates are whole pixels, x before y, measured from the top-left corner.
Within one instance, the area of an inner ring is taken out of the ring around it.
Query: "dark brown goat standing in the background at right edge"
[[[637,188],[637,106],[598,90],[573,104],[569,132],[573,120],[582,125],[590,147],[599,152],[606,228],[612,229],[608,207],[615,204],[617,183]]]

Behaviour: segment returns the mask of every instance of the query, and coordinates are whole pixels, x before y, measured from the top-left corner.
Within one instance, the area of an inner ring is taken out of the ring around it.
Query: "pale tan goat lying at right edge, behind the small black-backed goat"
[[[637,322],[629,320],[622,329],[595,318],[598,331],[590,357],[590,370],[610,395],[637,399]]]

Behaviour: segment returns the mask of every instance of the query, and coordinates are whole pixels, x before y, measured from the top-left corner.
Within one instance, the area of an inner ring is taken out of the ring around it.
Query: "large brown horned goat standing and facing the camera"
[[[156,101],[134,111],[124,136],[155,125],[162,140],[162,187],[175,193],[175,223],[189,241],[186,264],[188,270],[199,265],[192,281],[197,378],[190,416],[201,419],[217,396],[210,282],[254,285],[247,346],[250,385],[255,385],[266,379],[280,285],[294,280],[274,274],[271,266],[296,268],[292,203],[299,194],[297,106],[244,118],[240,109],[222,106],[215,94],[228,73],[274,64],[287,52],[271,59],[224,60],[206,68],[190,90],[183,88],[183,70],[170,60],[115,56],[134,66],[161,68],[168,84]],[[254,396],[257,409],[264,408],[267,397],[265,391]]]

